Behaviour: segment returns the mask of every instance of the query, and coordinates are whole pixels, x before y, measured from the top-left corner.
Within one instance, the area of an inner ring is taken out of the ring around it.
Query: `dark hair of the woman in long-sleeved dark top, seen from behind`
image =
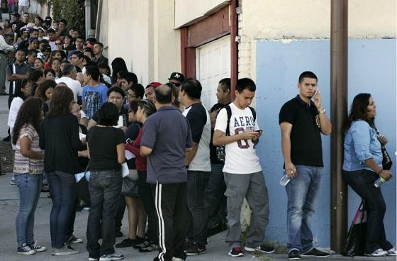
[[[50,111],[47,116],[60,116],[70,113],[69,106],[73,101],[73,92],[66,84],[57,84],[52,94]]]

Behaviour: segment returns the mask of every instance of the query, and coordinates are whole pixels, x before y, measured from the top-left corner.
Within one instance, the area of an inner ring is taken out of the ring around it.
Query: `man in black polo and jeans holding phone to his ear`
[[[290,260],[300,260],[301,254],[316,257],[330,255],[313,248],[310,226],[320,195],[323,170],[321,133],[330,135],[331,123],[321,103],[317,76],[313,72],[302,72],[298,89],[299,94],[287,101],[279,113],[284,170],[290,179],[286,184]]]

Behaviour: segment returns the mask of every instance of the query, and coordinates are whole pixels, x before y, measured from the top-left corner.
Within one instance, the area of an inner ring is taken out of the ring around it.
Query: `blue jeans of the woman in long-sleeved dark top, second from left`
[[[52,195],[51,245],[52,248],[62,248],[67,240],[67,228],[76,203],[76,179],[74,174],[55,171],[47,173],[47,180]]]

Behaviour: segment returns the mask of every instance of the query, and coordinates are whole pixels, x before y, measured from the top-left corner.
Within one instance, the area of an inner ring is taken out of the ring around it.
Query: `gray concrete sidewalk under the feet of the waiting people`
[[[2,141],[0,141],[2,142]],[[47,198],[46,193],[42,193],[38,203],[38,209],[35,212],[35,239],[40,241],[40,244],[49,248],[45,252],[39,252],[29,257],[16,255],[16,232],[15,232],[15,217],[18,212],[18,188],[10,185],[11,174],[0,176],[0,260],[6,261],[42,261],[42,260],[88,260],[88,253],[85,249],[85,234],[86,234],[86,221],[88,213],[78,212],[76,221],[74,223],[74,235],[79,238],[84,238],[84,243],[76,244],[75,248],[80,251],[78,255],[70,255],[65,257],[54,257],[50,255],[50,210],[51,200]],[[122,231],[124,235],[128,233],[127,211],[123,219]],[[228,247],[224,242],[225,232],[215,235],[208,240],[207,253],[195,257],[188,257],[192,261],[218,261],[218,260],[288,260],[286,255],[250,255],[246,254],[245,257],[230,257],[228,256]],[[117,243],[123,238],[117,238]],[[125,260],[134,261],[148,261],[155,257],[155,252],[140,253],[134,248],[116,249],[116,251],[123,252]],[[366,260],[366,261],[381,261],[381,260],[396,260],[396,257],[342,257],[340,255],[332,255],[330,257],[323,257],[321,259],[315,257],[304,257],[302,260]]]

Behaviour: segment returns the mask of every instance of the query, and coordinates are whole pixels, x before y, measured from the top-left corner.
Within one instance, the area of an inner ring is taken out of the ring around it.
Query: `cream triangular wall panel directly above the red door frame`
[[[186,26],[228,4],[230,0],[175,0],[175,28]]]

